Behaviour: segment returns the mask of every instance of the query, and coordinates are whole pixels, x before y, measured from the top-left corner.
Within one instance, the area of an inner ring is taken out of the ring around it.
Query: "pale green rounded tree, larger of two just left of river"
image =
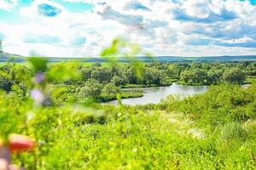
[[[81,95],[83,98],[95,98],[102,94],[102,88],[102,83],[96,81],[95,79],[89,79],[87,82],[85,82],[84,87],[81,88]]]

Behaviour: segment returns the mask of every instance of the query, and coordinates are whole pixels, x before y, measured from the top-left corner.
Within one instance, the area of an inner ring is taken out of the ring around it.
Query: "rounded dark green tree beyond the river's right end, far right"
[[[224,71],[222,79],[225,82],[241,83],[246,80],[246,74],[239,68],[232,68],[232,69]]]

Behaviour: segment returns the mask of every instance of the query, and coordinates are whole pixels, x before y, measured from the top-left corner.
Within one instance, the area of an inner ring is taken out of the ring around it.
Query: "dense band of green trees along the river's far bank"
[[[68,69],[67,69],[68,67]],[[62,70],[68,70],[68,74]],[[33,71],[27,65],[7,64],[0,68],[0,89],[10,92],[19,89],[26,94]],[[256,76],[256,62],[212,63],[137,63],[103,65],[94,63],[61,63],[49,65],[49,83],[67,87],[71,94],[82,98],[116,96],[121,88],[165,86],[172,82],[190,85],[211,85],[220,82],[243,83],[246,77]],[[50,78],[52,77],[54,78]],[[68,81],[65,77],[69,75]],[[55,77],[62,77],[61,80]],[[64,77],[64,78],[63,78]],[[137,95],[137,94],[136,94]]]

